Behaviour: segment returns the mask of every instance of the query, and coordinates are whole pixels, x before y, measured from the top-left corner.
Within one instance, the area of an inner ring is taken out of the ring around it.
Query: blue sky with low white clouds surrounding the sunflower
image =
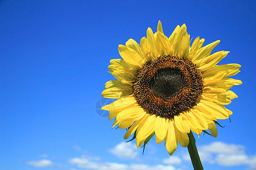
[[[255,1],[1,1],[0,169],[192,169],[187,148],[169,156],[151,140],[142,155],[125,129],[96,112],[118,44],[158,20],[240,63],[241,86],[218,137],[196,141],[205,169],[256,169]],[[105,102],[105,100],[101,100]]]

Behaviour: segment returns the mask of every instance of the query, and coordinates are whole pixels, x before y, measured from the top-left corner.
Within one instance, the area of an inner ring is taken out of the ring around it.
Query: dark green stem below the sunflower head
[[[203,165],[201,163],[197,148],[196,148],[196,140],[193,136],[192,131],[188,134],[189,144],[188,144],[188,152],[195,170],[203,170]]]

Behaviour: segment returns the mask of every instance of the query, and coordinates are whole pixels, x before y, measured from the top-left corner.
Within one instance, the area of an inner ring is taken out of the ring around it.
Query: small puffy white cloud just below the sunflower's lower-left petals
[[[121,142],[112,148],[110,152],[123,159],[135,159],[138,155],[137,146],[131,142]]]

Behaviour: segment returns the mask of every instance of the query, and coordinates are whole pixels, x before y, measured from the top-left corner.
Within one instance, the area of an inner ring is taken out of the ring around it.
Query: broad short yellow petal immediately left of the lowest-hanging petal
[[[155,135],[163,142],[168,129],[168,119],[157,116],[155,120]]]

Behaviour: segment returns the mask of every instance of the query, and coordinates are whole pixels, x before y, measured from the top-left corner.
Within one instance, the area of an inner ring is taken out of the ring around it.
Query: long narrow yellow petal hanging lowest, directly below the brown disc
[[[166,142],[166,148],[170,155],[174,154],[176,148],[177,148],[177,140],[176,140],[176,134],[174,129],[174,122],[172,120],[169,120],[168,122],[168,131],[165,138]]]

